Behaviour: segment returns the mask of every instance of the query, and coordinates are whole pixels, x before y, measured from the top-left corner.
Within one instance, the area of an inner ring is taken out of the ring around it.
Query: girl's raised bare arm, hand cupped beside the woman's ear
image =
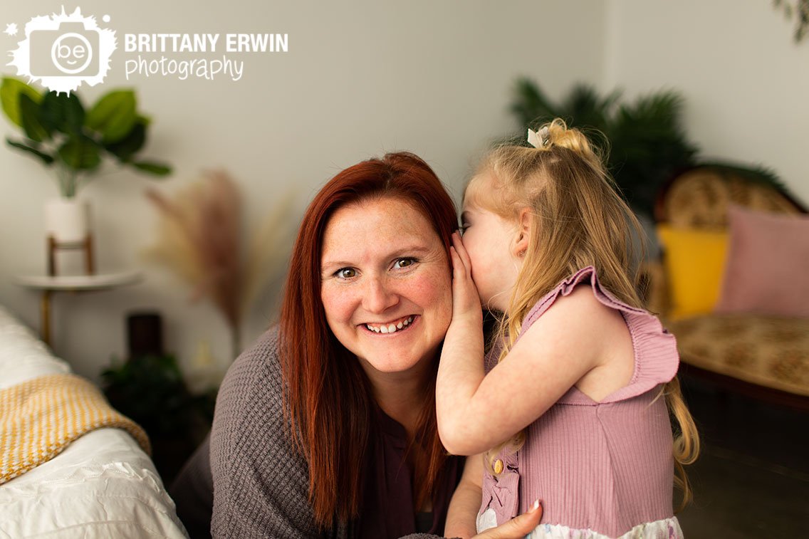
[[[609,339],[604,328],[615,327],[615,313],[579,286],[527,329],[485,376],[481,303],[460,236],[454,234],[452,243],[452,322],[435,403],[444,447],[471,455],[527,427],[597,367]]]

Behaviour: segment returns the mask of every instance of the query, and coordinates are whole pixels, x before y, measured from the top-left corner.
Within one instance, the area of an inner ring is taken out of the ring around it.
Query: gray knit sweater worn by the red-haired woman
[[[214,537],[354,537],[350,525],[318,531],[308,503],[307,462],[285,433],[277,329],[227,371],[210,435]],[[428,534],[408,539],[428,539]]]

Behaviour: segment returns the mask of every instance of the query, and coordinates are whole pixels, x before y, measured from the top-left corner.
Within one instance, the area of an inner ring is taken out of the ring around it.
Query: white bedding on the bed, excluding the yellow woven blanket
[[[70,372],[0,307],[0,389]],[[0,538],[188,537],[155,465],[121,429],[83,435],[0,486]]]

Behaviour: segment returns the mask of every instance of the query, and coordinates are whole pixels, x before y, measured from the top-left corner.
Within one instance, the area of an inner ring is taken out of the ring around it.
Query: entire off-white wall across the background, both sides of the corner
[[[6,2],[8,3],[8,2]],[[145,155],[176,169],[160,189],[172,193],[201,169],[224,167],[244,193],[248,227],[290,186],[297,212],[330,176],[384,151],[406,149],[430,162],[457,193],[473,155],[514,129],[507,105],[518,74],[540,80],[552,97],[577,81],[627,97],[671,87],[686,98],[688,133],[703,155],[764,163],[809,201],[804,161],[809,132],[809,42],[795,45],[793,23],[766,0],[608,0],[557,2],[103,2],[80,4],[108,14],[125,33],[281,32],[285,54],[229,54],[244,60],[238,82],[152,76],[130,81],[123,60],[92,101],[112,87],[138,90],[153,117]],[[72,11],[74,4],[65,4]],[[20,28],[60,2],[4,5],[0,30]],[[0,49],[21,36],[0,34]],[[3,66],[3,74],[14,74]],[[0,121],[0,134],[15,129]],[[38,325],[38,296],[12,282],[44,272],[43,202],[55,182],[32,159],[0,148],[0,303]],[[208,303],[188,303],[188,289],[141,252],[155,237],[145,176],[110,171],[84,189],[93,203],[101,270],[138,268],[144,281],[115,291],[57,295],[54,346],[95,378],[125,350],[125,313],[163,312],[166,344],[184,363],[209,340],[222,365],[228,334]],[[271,286],[245,322],[250,341],[275,312]]]

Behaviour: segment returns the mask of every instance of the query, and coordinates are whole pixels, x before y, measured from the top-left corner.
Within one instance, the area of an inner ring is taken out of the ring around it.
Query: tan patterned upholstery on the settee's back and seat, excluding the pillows
[[[675,227],[722,230],[727,226],[728,202],[773,213],[802,213],[772,186],[695,168],[678,176],[661,194],[655,219]],[[665,266],[651,262],[646,274],[649,308],[660,313],[677,337],[684,363],[809,397],[809,318],[714,314],[667,320]]]

